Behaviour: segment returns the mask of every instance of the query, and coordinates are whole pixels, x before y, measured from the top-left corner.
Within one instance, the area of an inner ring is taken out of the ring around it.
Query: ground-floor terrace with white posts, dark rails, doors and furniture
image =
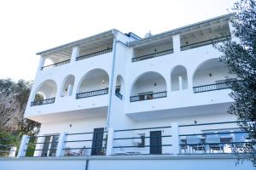
[[[1,139],[0,156],[234,155],[251,142],[237,123],[211,122],[132,129],[96,128],[93,132],[24,135],[18,145]],[[252,123],[252,122],[242,122]]]

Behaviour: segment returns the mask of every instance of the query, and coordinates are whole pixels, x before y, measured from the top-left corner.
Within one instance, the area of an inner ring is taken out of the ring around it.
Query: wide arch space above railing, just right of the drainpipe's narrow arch
[[[154,71],[144,72],[131,85],[131,96],[164,91],[166,91],[166,79]]]

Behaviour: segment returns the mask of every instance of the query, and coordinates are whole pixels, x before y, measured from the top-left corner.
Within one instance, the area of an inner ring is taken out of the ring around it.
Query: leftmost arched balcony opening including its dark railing
[[[47,80],[42,82],[35,94],[33,95],[33,105],[46,105],[55,102],[55,95],[57,91],[57,85],[53,80]]]

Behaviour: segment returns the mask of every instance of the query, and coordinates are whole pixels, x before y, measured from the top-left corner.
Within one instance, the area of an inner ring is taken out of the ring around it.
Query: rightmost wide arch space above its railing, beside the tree
[[[218,58],[207,59],[196,67],[192,77],[193,87],[224,82],[226,77],[236,76],[230,75],[226,65]]]

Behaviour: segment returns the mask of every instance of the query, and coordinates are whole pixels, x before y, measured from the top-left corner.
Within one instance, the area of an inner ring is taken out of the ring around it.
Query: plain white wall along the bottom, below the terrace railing
[[[84,170],[86,169],[86,159],[81,158],[57,158],[57,159],[2,159],[0,160],[0,167],[4,170]],[[113,156],[103,158],[90,158],[87,170],[253,170],[252,162],[243,161],[237,164],[236,158],[232,156]]]

